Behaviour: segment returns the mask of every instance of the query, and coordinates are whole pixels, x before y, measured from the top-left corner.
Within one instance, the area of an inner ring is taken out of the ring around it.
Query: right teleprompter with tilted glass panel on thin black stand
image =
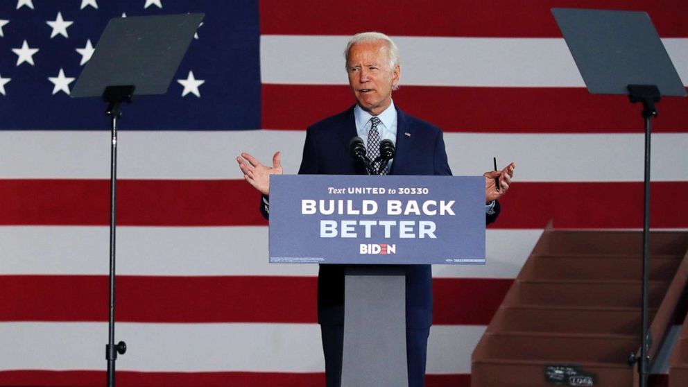
[[[650,264],[650,139],[655,103],[662,96],[686,96],[660,37],[646,12],[553,8],[559,28],[592,94],[626,94],[642,103],[645,121],[642,328],[639,354],[631,354],[641,387],[650,373],[648,334]]]

